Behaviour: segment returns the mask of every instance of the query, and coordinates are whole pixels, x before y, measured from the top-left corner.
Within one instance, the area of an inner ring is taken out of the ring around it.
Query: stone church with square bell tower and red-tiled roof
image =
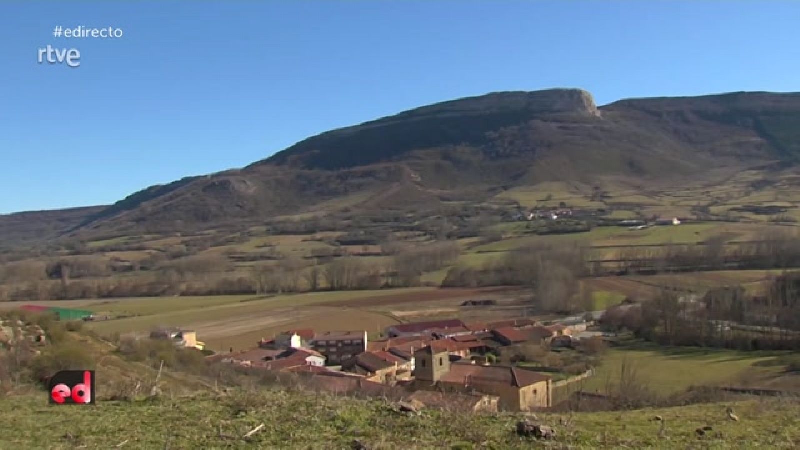
[[[443,349],[426,347],[414,354],[414,388],[480,392],[498,396],[504,411],[531,411],[553,405],[553,380],[522,368],[452,364]]]

